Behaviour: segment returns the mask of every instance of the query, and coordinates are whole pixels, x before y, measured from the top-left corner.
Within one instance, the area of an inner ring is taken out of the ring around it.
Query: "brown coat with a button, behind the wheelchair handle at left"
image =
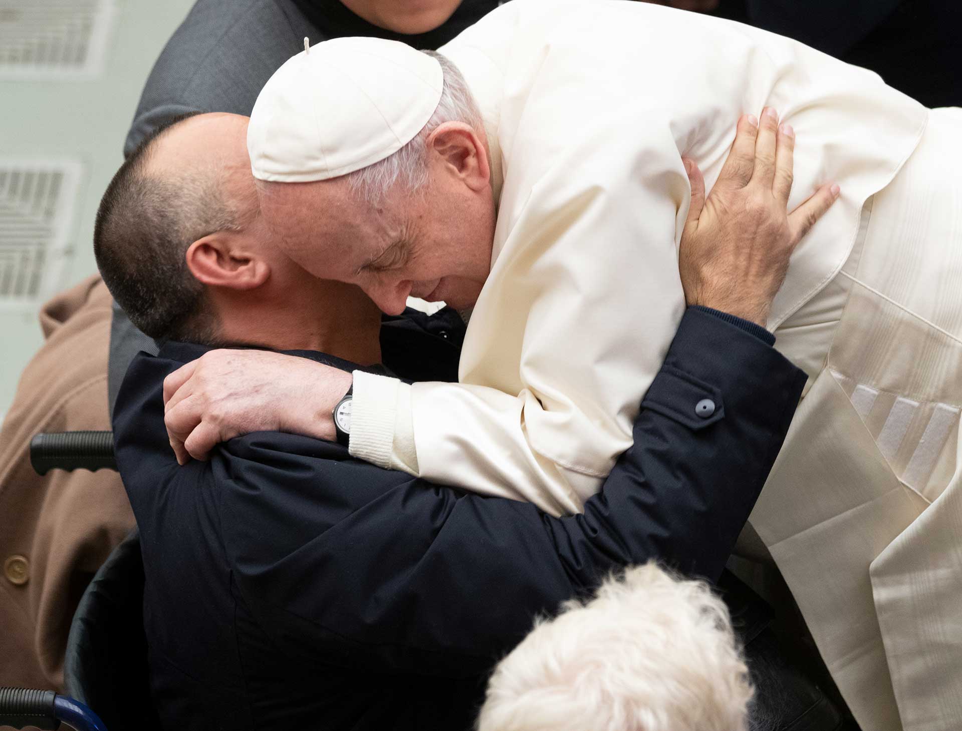
[[[39,477],[28,452],[38,432],[111,428],[111,296],[100,277],[47,302],[40,325],[46,342],[0,431],[0,686],[60,690],[74,610],[134,516],[116,472]]]

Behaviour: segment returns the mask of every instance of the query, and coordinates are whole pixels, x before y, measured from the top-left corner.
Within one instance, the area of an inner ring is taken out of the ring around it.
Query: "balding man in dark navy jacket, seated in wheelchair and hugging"
[[[148,139],[114,177],[95,230],[105,282],[164,340],[156,357],[134,360],[114,434],[165,728],[467,729],[487,673],[533,618],[612,570],[653,558],[720,576],[804,380],[722,313],[685,315],[636,446],[578,517],[369,466],[280,424],[178,467],[165,378],[215,345],[278,359],[305,384],[326,366],[387,372],[379,363],[411,379],[456,376],[457,343],[432,318],[382,324],[362,290],[318,280],[284,253],[256,206],[246,125],[201,114]],[[756,205],[750,190],[742,201]],[[695,241],[692,265],[740,272],[747,286],[740,251],[754,234],[705,225],[704,236],[733,245],[713,246],[726,253],[708,264],[697,256],[707,242]],[[763,250],[778,252],[778,227],[769,230]],[[708,429],[676,411],[694,384],[725,399],[727,416]],[[760,668],[753,714],[773,729],[802,713],[834,729],[838,713],[780,658],[764,610],[722,586],[741,610],[749,668]]]

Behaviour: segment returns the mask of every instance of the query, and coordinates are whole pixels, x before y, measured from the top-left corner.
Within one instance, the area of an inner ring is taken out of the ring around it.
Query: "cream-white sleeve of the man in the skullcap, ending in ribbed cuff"
[[[408,401],[409,471],[561,516],[581,512],[631,445],[685,311],[676,246],[690,187],[664,111],[586,122],[566,145],[539,136],[538,121],[558,106],[544,96],[532,93],[532,119],[512,141],[500,250],[471,315],[459,383],[389,393],[390,384],[359,382],[351,452],[410,466],[392,459]]]

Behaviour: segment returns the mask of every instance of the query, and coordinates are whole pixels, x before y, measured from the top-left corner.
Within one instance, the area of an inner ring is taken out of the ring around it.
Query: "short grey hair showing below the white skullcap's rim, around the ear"
[[[427,139],[444,122],[464,122],[475,130],[481,130],[484,124],[468,82],[458,67],[440,53],[421,53],[437,59],[444,74],[437,109],[418,135],[397,152],[344,176],[351,189],[372,205],[380,202],[395,185],[403,186],[406,192],[414,192],[427,184]]]

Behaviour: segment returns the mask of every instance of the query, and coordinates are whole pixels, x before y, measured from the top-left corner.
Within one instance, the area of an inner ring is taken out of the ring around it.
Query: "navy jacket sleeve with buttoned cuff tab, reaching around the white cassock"
[[[717,578],[804,381],[761,340],[688,312],[635,446],[572,517],[312,461],[312,450],[332,448],[325,442],[282,435],[284,451],[267,439],[276,435],[228,442],[217,468],[241,595],[291,652],[371,669],[485,671],[533,618],[621,567],[656,559]],[[696,415],[704,399],[715,405],[707,418]]]

